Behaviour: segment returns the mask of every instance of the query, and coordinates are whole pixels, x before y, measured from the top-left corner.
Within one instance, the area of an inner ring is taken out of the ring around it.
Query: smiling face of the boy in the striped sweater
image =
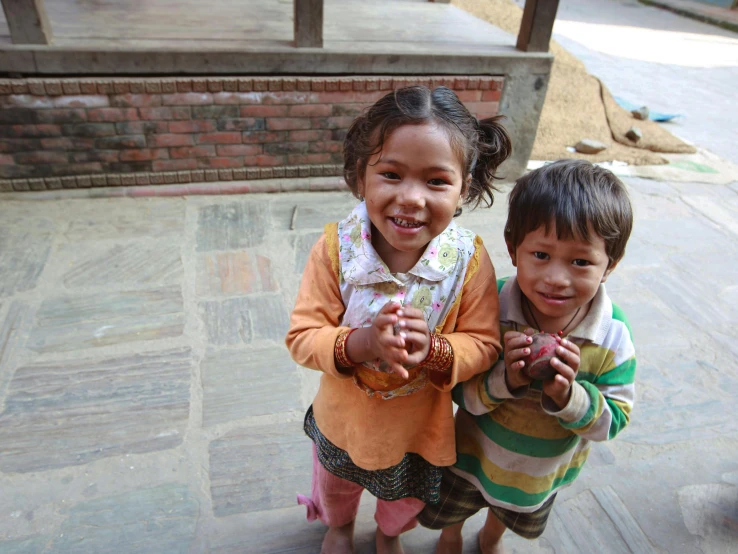
[[[552,225],[548,233],[543,226],[528,233],[517,248],[508,243],[518,284],[542,331],[555,333],[567,327],[582,308],[567,327],[573,329],[587,314],[600,283],[615,269],[608,268],[602,237],[590,229],[590,239],[560,240]]]

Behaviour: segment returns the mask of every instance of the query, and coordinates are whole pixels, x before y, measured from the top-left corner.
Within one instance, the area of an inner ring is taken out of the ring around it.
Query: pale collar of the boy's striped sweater
[[[520,329],[531,327],[523,315],[520,299],[522,293],[516,277],[511,277],[500,290],[500,320],[517,323]],[[601,283],[597,294],[592,299],[589,311],[584,319],[572,329],[568,336],[585,339],[595,344],[602,344],[610,330],[612,322],[612,302],[607,296],[605,284]]]

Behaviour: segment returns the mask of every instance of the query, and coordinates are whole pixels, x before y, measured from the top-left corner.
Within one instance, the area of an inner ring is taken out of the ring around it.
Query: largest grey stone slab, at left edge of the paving
[[[28,365],[0,413],[0,469],[26,473],[182,442],[189,349]]]

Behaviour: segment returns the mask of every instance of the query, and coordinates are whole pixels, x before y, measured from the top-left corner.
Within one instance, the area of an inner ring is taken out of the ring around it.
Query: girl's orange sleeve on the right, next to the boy
[[[443,333],[454,351],[451,378],[433,382],[443,391],[490,368],[502,351],[500,303],[492,260],[479,239],[479,267],[464,284],[453,332]]]

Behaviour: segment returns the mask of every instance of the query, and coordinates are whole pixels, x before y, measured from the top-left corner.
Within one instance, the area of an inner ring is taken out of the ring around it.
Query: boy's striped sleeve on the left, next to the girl
[[[508,389],[505,361],[497,360],[492,369],[456,385],[452,397],[460,408],[473,415],[482,415],[493,411],[505,400],[523,398],[529,388],[520,387],[514,391]]]

